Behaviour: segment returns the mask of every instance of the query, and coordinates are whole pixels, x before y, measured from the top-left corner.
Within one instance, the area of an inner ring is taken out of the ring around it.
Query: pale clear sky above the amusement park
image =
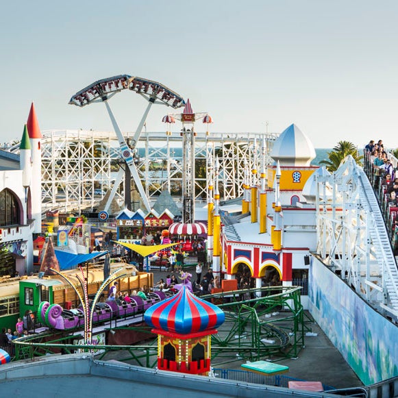
[[[214,132],[295,123],[319,148],[398,147],[398,1],[21,0],[1,10],[1,142],[21,138],[32,101],[42,131],[111,131],[104,105],[68,101],[127,74],[189,98]],[[125,90],[110,105],[132,132],[146,103]],[[147,130],[164,131],[168,112],[153,106]]]

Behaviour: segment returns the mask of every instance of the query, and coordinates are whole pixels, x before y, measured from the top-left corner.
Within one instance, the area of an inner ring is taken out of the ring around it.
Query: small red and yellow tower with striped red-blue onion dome
[[[210,338],[224,320],[219,307],[199,299],[185,286],[149,308],[145,322],[158,334],[158,369],[208,375]]]

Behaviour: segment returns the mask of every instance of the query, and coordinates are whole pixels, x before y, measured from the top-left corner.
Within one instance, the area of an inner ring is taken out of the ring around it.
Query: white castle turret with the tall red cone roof
[[[29,116],[27,118],[27,132],[32,147],[32,217],[34,219],[34,233],[41,232],[42,219],[42,134],[38,125],[36,110],[34,103],[30,107]]]

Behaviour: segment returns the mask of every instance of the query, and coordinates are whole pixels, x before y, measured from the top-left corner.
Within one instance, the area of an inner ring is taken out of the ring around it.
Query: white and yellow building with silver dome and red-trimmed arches
[[[246,184],[242,214],[222,225],[221,266],[217,269],[213,261],[213,272],[238,279],[241,288],[250,287],[242,286],[242,281],[258,288],[306,282],[308,255],[316,249],[315,205],[306,202],[306,186],[319,169],[310,164],[314,147],[296,125],[290,125],[275,141],[271,158],[275,162],[267,169],[263,166],[259,186]]]

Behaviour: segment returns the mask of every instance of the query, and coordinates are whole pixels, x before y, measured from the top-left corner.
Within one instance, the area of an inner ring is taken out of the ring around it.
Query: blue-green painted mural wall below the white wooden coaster
[[[312,258],[308,308],[365,385],[398,376],[398,327]]]

